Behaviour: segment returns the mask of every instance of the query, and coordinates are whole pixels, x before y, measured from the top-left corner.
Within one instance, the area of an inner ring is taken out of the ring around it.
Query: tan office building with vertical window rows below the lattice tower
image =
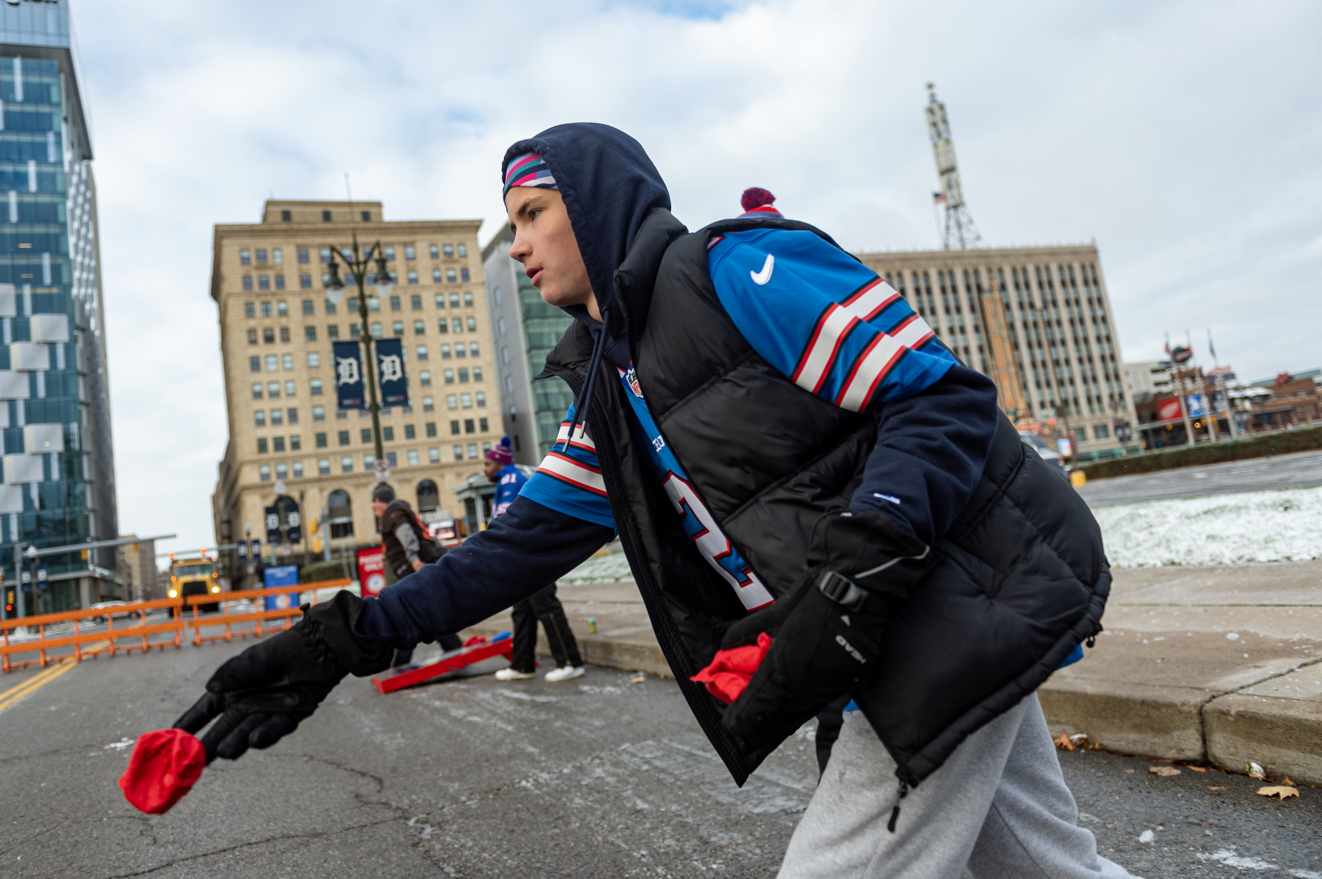
[[[857,253],[1021,421],[1055,420],[1080,459],[1121,454],[1137,424],[1095,244]]]

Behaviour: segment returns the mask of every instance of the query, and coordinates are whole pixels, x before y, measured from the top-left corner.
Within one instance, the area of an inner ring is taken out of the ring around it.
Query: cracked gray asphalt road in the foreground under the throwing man
[[[115,787],[130,740],[242,647],[87,661],[0,711],[0,874],[772,876],[817,776],[805,729],[736,789],[673,681],[590,669],[379,696],[350,680],[173,812],[135,812]],[[1278,802],[1243,776],[1060,758],[1083,822],[1136,875],[1322,876],[1322,789]]]

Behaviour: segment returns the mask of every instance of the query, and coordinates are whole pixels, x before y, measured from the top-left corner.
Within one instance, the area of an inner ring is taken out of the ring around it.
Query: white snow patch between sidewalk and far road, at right
[[[1322,488],[1149,500],[1092,512],[1116,568],[1322,558]]]

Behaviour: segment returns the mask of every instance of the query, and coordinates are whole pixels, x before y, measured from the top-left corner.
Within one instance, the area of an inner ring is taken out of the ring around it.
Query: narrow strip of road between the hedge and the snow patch
[[[1167,498],[1202,498],[1239,491],[1322,486],[1322,451],[1297,451],[1270,458],[1228,461],[1203,467],[1179,467],[1132,476],[1093,479],[1079,488],[1091,507]]]

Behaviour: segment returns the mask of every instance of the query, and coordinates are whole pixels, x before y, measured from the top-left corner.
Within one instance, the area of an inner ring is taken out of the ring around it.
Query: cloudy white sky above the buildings
[[[1322,5],[74,4],[100,191],[120,528],[213,541],[212,226],[263,199],[498,222],[563,121],[648,148],[690,228],[765,186],[854,249],[935,248],[937,83],[992,245],[1096,239],[1128,360],[1206,327],[1241,379],[1322,366]]]

